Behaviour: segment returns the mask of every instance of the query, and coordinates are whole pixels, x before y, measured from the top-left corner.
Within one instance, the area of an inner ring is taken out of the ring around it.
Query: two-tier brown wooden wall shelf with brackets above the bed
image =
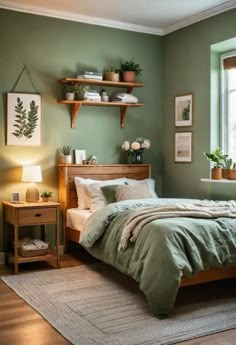
[[[107,80],[94,80],[94,79],[76,79],[76,78],[63,78],[58,80],[62,84],[75,83],[97,86],[111,86],[126,88],[127,93],[131,93],[135,87],[143,87],[141,83],[126,83],[126,82],[112,82]],[[67,101],[59,100],[60,104],[71,105],[71,128],[75,128],[75,121],[81,106],[102,106],[102,107],[119,107],[120,108],[120,126],[125,127],[125,117],[129,107],[142,107],[143,103],[122,103],[122,102],[95,102],[95,101]]]

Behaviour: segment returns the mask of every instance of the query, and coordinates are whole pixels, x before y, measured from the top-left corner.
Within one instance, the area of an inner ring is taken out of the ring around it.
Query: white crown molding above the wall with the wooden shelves
[[[161,29],[156,29],[153,27],[135,25],[135,24],[125,23],[125,22],[120,22],[120,21],[115,21],[115,20],[109,20],[105,18],[84,16],[84,15],[75,14],[71,12],[61,12],[61,11],[51,10],[51,9],[42,8],[38,6],[18,4],[11,1],[5,1],[5,0],[1,1],[0,8],[17,11],[17,12],[36,14],[36,15],[45,16],[45,17],[53,17],[53,18],[58,18],[58,19],[70,20],[73,22],[80,22],[80,23],[105,26],[105,27],[121,29],[121,30],[141,32],[141,33],[152,34],[152,35],[161,35],[161,32],[162,32]]]

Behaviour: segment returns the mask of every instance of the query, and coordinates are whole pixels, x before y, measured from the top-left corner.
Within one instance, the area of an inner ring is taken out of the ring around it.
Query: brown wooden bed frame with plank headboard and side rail
[[[142,180],[151,177],[150,164],[112,164],[112,165],[78,165],[58,164],[59,169],[59,201],[63,213],[63,239],[79,243],[80,232],[66,227],[66,211],[78,207],[75,176],[94,180],[112,180],[121,177]],[[236,267],[226,266],[221,269],[211,269],[199,272],[194,278],[183,277],[181,286],[206,283],[214,280],[236,277]]]

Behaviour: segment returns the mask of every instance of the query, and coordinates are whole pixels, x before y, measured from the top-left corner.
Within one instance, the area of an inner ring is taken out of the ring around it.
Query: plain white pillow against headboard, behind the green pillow
[[[76,187],[77,198],[78,198],[78,208],[81,210],[90,208],[89,200],[85,192],[84,186],[88,186],[94,183],[100,183],[101,184],[100,187],[108,186],[112,184],[125,184],[125,180],[126,180],[125,178],[118,178],[114,180],[101,181],[101,180],[85,179],[79,176],[75,176],[75,187]],[[100,191],[101,191],[102,196],[104,197],[102,190]],[[103,206],[105,206],[105,204]]]

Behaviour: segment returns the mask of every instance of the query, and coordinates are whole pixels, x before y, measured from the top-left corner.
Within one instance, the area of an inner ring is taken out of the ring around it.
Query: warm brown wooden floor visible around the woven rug
[[[63,256],[61,267],[94,262],[95,259],[88,254],[82,254],[73,250],[70,255]],[[20,273],[42,269],[52,268],[43,262],[20,265]],[[0,265],[0,276],[13,274],[12,272],[13,267]],[[60,333],[0,280],[0,345],[68,344],[70,343]],[[181,342],[178,345],[236,345],[236,329]]]

